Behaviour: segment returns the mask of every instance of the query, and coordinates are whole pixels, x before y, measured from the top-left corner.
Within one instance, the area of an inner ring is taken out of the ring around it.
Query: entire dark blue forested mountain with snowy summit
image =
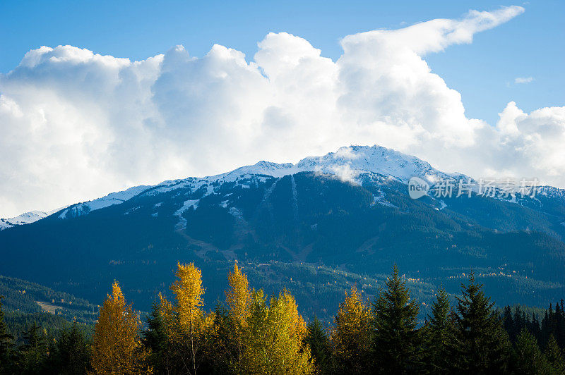
[[[449,180],[420,199],[408,181]],[[500,305],[546,306],[565,294],[565,194],[492,194],[383,147],[343,147],[297,164],[261,161],[229,173],[132,187],[0,232],[0,273],[95,303],[114,279],[136,309],[167,292],[177,262],[203,270],[206,303],[222,299],[237,260],[255,288],[287,288],[302,312],[330,319],[345,290],[368,296],[394,263],[422,312],[443,284],[473,270]]]

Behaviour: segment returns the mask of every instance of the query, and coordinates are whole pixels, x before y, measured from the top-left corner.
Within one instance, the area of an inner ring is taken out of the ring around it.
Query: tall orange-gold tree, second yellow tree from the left
[[[203,345],[207,330],[213,324],[213,314],[205,314],[201,307],[204,305],[202,295],[202,272],[190,264],[177,265],[177,280],[171,285],[172,293],[177,297],[177,305],[172,307],[176,317],[173,338],[180,346],[180,354],[186,370],[196,374],[201,364]],[[185,358],[188,357],[188,361]]]

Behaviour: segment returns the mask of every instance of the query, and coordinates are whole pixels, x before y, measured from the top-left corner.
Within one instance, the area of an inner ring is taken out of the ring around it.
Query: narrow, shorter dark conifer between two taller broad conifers
[[[425,330],[427,353],[424,362],[432,374],[446,373],[452,367],[455,331],[449,308],[449,297],[444,288],[436,294],[432,305],[432,316]]]

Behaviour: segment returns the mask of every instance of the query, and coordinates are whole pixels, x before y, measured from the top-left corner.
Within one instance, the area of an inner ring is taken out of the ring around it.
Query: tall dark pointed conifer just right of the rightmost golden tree
[[[410,300],[406,282],[393,274],[373,304],[376,367],[384,373],[404,374],[416,371],[420,364],[420,333],[416,329],[418,306]]]

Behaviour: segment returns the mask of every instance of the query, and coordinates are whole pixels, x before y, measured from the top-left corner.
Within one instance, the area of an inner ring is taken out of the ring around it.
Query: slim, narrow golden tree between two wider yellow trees
[[[230,284],[230,289],[225,292],[227,312],[230,317],[228,340],[234,343],[236,350],[236,363],[233,364],[236,367],[235,372],[241,374],[243,333],[250,314],[251,291],[246,274],[239,269],[237,264],[234,265],[234,271],[227,274],[227,280]]]

